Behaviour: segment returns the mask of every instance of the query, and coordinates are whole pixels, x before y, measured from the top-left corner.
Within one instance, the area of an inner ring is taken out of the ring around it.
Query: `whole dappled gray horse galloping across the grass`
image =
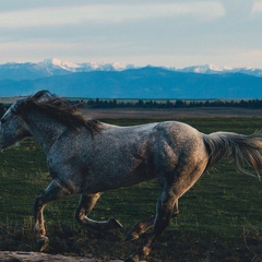
[[[262,169],[262,135],[229,132],[203,134],[188,124],[167,121],[117,127],[86,119],[76,107],[47,91],[14,103],[1,119],[0,148],[33,136],[47,156],[51,183],[34,205],[35,230],[40,251],[48,245],[44,207],[51,201],[81,194],[75,218],[104,230],[121,227],[110,218],[88,218],[100,193],[157,178],[156,215],[138,223],[128,234],[133,240],[153,227],[143,247],[126,261],[148,255],[152,245],[178,214],[178,199],[221,158]],[[143,193],[143,192],[142,192]]]

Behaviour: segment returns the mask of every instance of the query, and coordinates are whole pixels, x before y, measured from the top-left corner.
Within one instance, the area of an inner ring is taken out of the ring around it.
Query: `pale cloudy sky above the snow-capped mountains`
[[[0,0],[0,63],[262,69],[262,0]]]

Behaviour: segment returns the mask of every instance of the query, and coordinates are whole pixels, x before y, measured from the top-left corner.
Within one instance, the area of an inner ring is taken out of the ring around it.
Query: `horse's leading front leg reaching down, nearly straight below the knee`
[[[35,231],[37,235],[37,248],[44,251],[48,246],[48,237],[46,237],[45,221],[43,211],[45,206],[57,199],[61,199],[71,194],[70,190],[62,186],[58,179],[53,179],[43,194],[40,194],[34,205]]]

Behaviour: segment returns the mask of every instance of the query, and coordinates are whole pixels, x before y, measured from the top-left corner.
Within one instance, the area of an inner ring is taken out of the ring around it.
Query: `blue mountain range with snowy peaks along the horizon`
[[[31,95],[39,90],[91,98],[262,98],[262,70],[210,64],[138,68],[59,59],[0,64],[0,96]]]

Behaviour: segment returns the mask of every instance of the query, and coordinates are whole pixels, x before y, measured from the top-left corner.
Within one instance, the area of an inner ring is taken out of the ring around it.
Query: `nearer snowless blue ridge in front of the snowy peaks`
[[[39,90],[49,90],[68,97],[261,98],[262,78],[242,73],[203,74],[145,67],[0,81],[0,96],[29,95]]]

